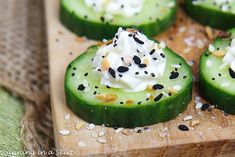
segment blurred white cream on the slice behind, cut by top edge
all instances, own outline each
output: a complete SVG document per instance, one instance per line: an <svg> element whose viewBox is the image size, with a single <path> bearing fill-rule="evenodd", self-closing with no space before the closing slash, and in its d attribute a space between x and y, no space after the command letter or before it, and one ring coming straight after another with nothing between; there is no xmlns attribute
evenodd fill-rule
<svg viewBox="0 0 235 157"><path fill-rule="evenodd" d="M131 17L142 10L144 0L85 0L85 4L106 18L113 15Z"/></svg>

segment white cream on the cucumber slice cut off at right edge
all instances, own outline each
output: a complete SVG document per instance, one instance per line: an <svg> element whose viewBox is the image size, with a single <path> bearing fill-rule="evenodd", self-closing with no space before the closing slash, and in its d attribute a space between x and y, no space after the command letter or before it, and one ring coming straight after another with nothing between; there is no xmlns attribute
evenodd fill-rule
<svg viewBox="0 0 235 157"><path fill-rule="evenodd" d="M230 66L235 71L235 38L232 40L227 52L223 58L223 65L221 67Z"/></svg>

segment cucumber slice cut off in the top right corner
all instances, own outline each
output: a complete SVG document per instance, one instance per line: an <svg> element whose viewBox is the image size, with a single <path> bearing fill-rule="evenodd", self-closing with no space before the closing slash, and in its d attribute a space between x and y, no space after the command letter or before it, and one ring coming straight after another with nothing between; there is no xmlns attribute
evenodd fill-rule
<svg viewBox="0 0 235 157"><path fill-rule="evenodd" d="M219 2L220 1L220 2ZM235 1L185 0L186 12L203 25L228 30L235 26Z"/></svg>

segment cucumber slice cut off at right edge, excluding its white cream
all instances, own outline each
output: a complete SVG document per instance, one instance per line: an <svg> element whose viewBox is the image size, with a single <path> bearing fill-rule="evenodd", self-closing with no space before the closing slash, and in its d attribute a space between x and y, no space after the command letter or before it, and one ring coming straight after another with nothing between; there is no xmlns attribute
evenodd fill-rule
<svg viewBox="0 0 235 157"><path fill-rule="evenodd" d="M225 51L235 37L235 29L232 35L223 39L218 37L213 46L216 50ZM220 69L223 57L209 52L207 49L200 59L200 91L204 98L222 109L226 113L235 114L235 79L228 67Z"/></svg>

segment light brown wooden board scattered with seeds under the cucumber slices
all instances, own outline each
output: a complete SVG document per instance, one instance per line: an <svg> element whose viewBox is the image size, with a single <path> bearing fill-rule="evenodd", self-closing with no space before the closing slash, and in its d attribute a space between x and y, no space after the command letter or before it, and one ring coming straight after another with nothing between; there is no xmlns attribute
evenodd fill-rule
<svg viewBox="0 0 235 157"><path fill-rule="evenodd" d="M193 100L179 117L148 126L150 129L142 133L136 133L132 129L116 134L113 128L101 126L88 130L88 124L66 106L63 80L68 63L95 42L83 41L83 38L76 37L63 27L58 17L59 0L45 0L45 10L51 106L57 149L72 153L72 156L235 156L235 116L226 116L216 109L210 112L200 111L195 109ZM165 41L170 48L188 60L197 80L198 59L210 42L207 37L210 29L206 33L204 27L186 17L181 9L177 16L176 24L156 39ZM197 83L194 85L196 96ZM183 121L182 118L187 115L192 115L193 119ZM199 120L200 124L190 127L193 120ZM85 125L76 129L77 123ZM190 131L180 131L180 124L187 125ZM61 135L61 130L69 130L69 135ZM91 136L100 131L105 132L100 138L105 139L106 143L97 142L97 138ZM81 147L84 144L86 146ZM60 155L65 156L63 153Z"/></svg>

